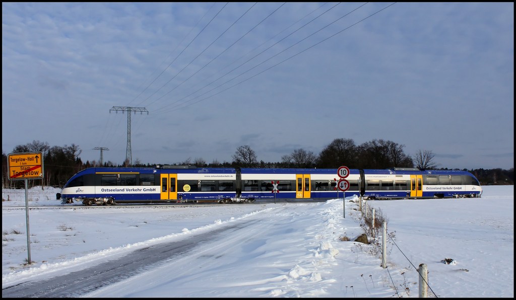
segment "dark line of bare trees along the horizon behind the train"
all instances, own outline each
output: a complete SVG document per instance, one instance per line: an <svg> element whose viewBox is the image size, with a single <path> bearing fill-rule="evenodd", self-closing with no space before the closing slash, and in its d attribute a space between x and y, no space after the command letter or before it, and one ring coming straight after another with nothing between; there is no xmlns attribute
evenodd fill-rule
<svg viewBox="0 0 516 300"><path fill-rule="evenodd" d="M337 169L346 165L350 169L388 169L388 168L418 168L426 170L447 169L440 168L434 161L434 154L430 150L421 149L414 155L404 152L405 145L382 139L372 140L356 145L352 139L335 139L319 154L299 148L292 153L283 155L281 161L265 162L257 159L257 154L249 145L236 148L232 161L219 162L217 160L206 163L202 158L191 159L174 163L176 165L196 165L201 168L317 168ZM80 159L82 150L78 145L50 146L47 142L33 141L25 145L15 146L11 153L41 152L43 155L43 179L29 179L29 186L53 186L62 188L70 177L80 170L91 166L101 166L100 161L86 161ZM141 163L138 159L132 166L152 168L163 163ZM7 155L2 151L2 188L24 188L23 180L9 180ZM116 165L111 161L102 162L102 166L129 166L128 161ZM477 177L481 185L513 185L514 168L503 169L475 169L469 171ZM43 180L43 182L41 182Z"/></svg>

